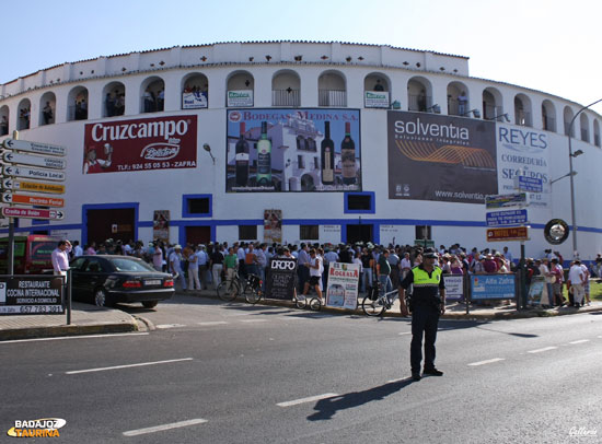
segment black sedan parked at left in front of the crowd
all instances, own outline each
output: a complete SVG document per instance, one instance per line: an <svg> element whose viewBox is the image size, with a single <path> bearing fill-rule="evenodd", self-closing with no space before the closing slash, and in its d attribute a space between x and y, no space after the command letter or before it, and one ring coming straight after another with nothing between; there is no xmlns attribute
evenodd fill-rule
<svg viewBox="0 0 602 444"><path fill-rule="evenodd" d="M172 274L155 271L136 257L79 256L71 260L71 268L73 300L99 306L141 302L152 308L175 292Z"/></svg>

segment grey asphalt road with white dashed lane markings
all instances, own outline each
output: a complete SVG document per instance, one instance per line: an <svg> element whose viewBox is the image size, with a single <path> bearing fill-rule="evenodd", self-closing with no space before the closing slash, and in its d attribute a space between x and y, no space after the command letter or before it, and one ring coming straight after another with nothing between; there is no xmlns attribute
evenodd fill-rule
<svg viewBox="0 0 602 444"><path fill-rule="evenodd" d="M412 382L407 319L190 296L127 309L157 329L0 342L2 436L62 418L61 443L602 441L602 315L441 322L445 374Z"/></svg>

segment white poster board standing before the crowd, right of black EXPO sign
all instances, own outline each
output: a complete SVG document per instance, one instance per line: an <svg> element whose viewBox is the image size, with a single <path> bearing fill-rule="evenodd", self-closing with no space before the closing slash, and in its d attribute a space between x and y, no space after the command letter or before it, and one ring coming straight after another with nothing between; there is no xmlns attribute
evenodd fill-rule
<svg viewBox="0 0 602 444"><path fill-rule="evenodd" d="M326 306L356 309L358 306L359 264L331 262Z"/></svg>

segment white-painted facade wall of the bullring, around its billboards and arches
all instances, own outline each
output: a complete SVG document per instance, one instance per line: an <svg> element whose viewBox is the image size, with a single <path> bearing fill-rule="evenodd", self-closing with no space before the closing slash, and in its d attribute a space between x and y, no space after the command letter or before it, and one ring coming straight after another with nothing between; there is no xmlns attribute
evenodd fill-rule
<svg viewBox="0 0 602 444"><path fill-rule="evenodd" d="M568 173L565 125L581 105L540 91L471 78L464 57L341 43L174 47L66 63L0 85L0 120L7 117L10 136L19 130L22 140L60 144L68 150L66 218L47 224L21 219L18 233L47 231L86 242L85 210L120 206L135 209L132 235L144 242L152 238L155 210L170 211L170 241L174 243L188 241L187 227L193 226L209 227L211 241L233 242L240 237L239 225L257 225L256 236L262 241L264 209L278 208L282 210L282 242L288 243L305 241L300 225L319 225L319 238L310 241L339 243L348 241L348 225L363 224L372 226L372 242L412 244L416 226L426 225L431 227L436 245L485 247L484 205L389 198L389 110L364 107L364 92L377 83L389 93L391 103L400 103L401 110L424 110L416 109L421 106L418 96L424 91L426 112L433 112L433 105L438 105L441 115L458 114L458 96L464 92L467 104L463 118L479 116L496 121L496 137L501 127L519 129L523 135L544 133L549 150L547 180ZM204 91L207 107L183 109L184 90L192 85ZM157 96L162 89L164 110L144 113L144 92L150 90ZM228 92L250 90L251 109L359 109L361 192L372 196L373 209L359 213L346 210L343 191L227 192L227 153L233 149L225 132ZM123 116L107 117L104 101L115 91L125 93L125 110ZM76 119L76 103L82 98L88 116ZM46 124L43 108L47 102L54 115ZM20 113L27 107L31 117L25 129ZM85 125L166 116L197 117L196 167L82 174ZM578 248L584 259L602 250L602 209L595 203L595 192L602 185L601 121L600 115L588 109L574 125L572 150L583 151L574 159L578 172L574 178ZM317 143L321 138L323 135L316 138ZM210 147L215 164L204 144ZM282 167L287 161L294 166L296 155L291 153L282 156ZM311 155L304 162L311 163ZM190 215L184 209L186 196L209 196L209 212ZM543 237L543 226L553 218L571 224L568 178L554 183L548 206L530 209L529 218L532 230L528 256L540 256L548 247L558 249L565 258L572 256L570 238L556 247ZM518 256L519 243L494 247L502 245Z"/></svg>

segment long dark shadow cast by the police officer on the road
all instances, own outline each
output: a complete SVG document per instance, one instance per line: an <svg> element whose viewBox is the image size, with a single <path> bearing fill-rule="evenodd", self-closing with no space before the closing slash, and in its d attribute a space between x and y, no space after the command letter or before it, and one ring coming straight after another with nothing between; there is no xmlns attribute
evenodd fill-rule
<svg viewBox="0 0 602 444"><path fill-rule="evenodd" d="M308 419L310 421L332 419L339 410L351 409L370 401L384 399L386 396L401 390L413 382L414 381L408 377L405 379L386 383L378 387L368 388L367 390L351 392L333 398L321 399L314 406L314 410L316 410L316 412L310 414Z"/></svg>

